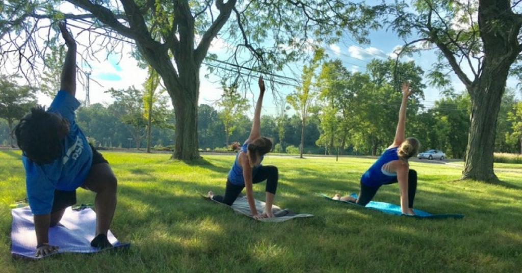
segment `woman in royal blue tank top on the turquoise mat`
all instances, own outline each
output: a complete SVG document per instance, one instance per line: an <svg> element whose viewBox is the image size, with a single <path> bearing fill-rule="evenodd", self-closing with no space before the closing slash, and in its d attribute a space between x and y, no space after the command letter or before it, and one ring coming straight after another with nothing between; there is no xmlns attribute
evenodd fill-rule
<svg viewBox="0 0 522 273"><path fill-rule="evenodd" d="M405 138L406 104L410 93L410 85L408 83L402 84L402 103L400 104L395 140L372 167L362 175L359 197L355 199L351 196L341 197L340 194L336 194L333 197L334 199L366 206L375 196L379 187L398 182L402 213L406 215L415 214L413 212L413 199L417 191L417 172L410 170L408 159L417 155L420 145L417 138Z"/></svg>

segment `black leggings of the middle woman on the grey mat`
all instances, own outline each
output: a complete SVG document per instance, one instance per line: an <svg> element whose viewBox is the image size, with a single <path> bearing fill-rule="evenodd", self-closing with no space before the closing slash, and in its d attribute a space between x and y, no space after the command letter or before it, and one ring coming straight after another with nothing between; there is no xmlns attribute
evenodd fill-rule
<svg viewBox="0 0 522 273"><path fill-rule="evenodd" d="M257 184L266 180L266 192L276 194L277 181L279 180L279 171L275 166L261 166L254 177L252 183ZM214 195L212 199L232 206L235 199L243 191L245 186L234 185L227 179L227 188L225 189L225 196Z"/></svg>

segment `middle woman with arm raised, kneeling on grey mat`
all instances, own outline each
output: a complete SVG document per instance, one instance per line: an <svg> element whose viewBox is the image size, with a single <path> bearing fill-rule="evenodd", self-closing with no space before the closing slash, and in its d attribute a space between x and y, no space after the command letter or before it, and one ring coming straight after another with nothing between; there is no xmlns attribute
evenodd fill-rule
<svg viewBox="0 0 522 273"><path fill-rule="evenodd" d="M274 217L272 214L272 204L277 189L279 173L275 166L263 166L263 156L272 149L272 141L261 136L261 106L265 94L265 84L263 77L259 77L259 98L257 99L254 112L254 121L250 136L241 147L235 158L232 169L230 169L227 179L225 195L214 195L208 192L208 197L223 204L231 206L238 195L246 187L246 198L252 217L255 219ZM266 200L263 213L259 214L254 201L252 185L266 180Z"/></svg>

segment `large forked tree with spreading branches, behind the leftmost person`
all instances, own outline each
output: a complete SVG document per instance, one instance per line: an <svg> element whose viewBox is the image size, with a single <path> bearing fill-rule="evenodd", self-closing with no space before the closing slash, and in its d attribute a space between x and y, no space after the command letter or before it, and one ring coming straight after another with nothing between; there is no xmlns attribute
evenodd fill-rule
<svg viewBox="0 0 522 273"><path fill-rule="evenodd" d="M242 67L274 71L306 56L311 41L329 44L348 34L366 42L368 31L378 26L376 13L383 10L348 0L67 0L76 9L64 13L58 10L61 2L11 0L3 4L0 64L14 57L19 60L19 72L39 78L35 70L26 73L26 65L45 56L46 47L40 41L42 33L49 33L43 29L50 26L46 19L68 19L70 26L74 22L88 31L84 57L100 49L120 51L118 43L135 45L136 54L158 72L172 98L173 157L184 160L199 158L199 70L218 34L229 45L224 57L234 62L235 69L229 70L236 70L236 75ZM223 58L209 57L215 66L222 64L218 62Z"/></svg>

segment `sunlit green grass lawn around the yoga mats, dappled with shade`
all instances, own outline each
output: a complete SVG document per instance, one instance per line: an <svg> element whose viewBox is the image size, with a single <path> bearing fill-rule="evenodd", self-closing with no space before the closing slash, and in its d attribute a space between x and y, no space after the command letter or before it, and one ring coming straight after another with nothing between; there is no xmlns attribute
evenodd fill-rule
<svg viewBox="0 0 522 273"><path fill-rule="evenodd" d="M266 157L280 170L276 204L313 218L257 222L198 196L224 191L233 156L199 164L169 155L104 152L118 177L111 227L126 252L64 254L37 262L10 257L9 204L25 197L19 152L0 151L2 272L520 272L522 174L499 172L503 185L455 181L460 168L411 162L419 173L416 208L462 213L422 220L335 203L317 193L358 192L368 158ZM264 186L254 186L264 199ZM397 185L376 200L399 203ZM78 203L93 194L78 190Z"/></svg>

